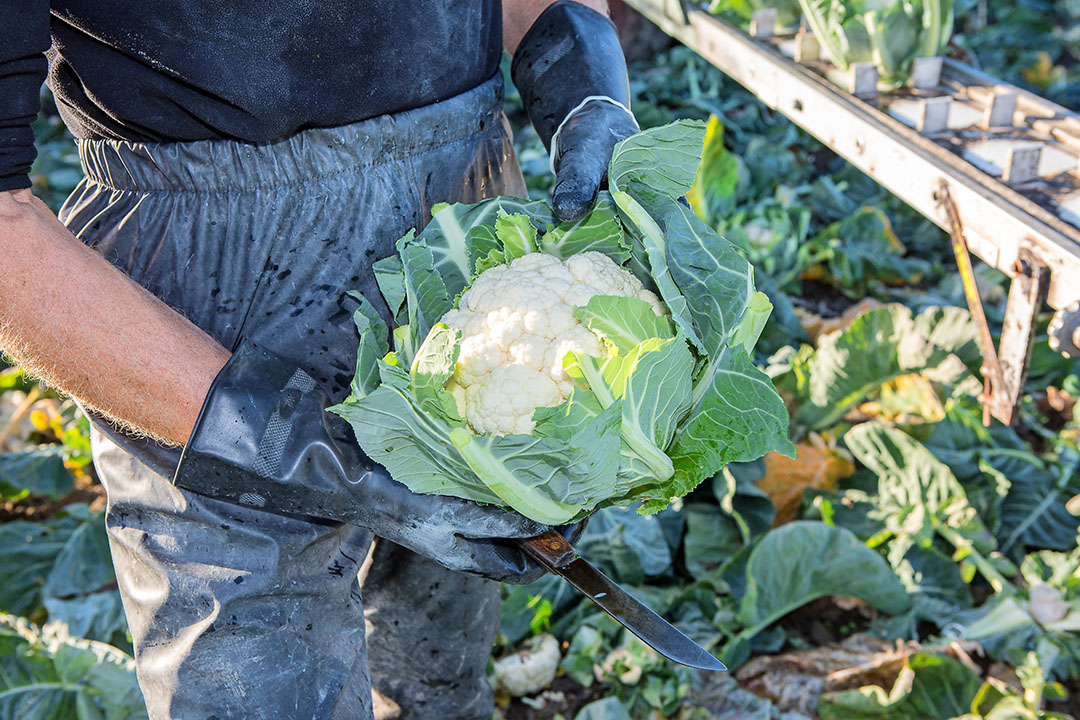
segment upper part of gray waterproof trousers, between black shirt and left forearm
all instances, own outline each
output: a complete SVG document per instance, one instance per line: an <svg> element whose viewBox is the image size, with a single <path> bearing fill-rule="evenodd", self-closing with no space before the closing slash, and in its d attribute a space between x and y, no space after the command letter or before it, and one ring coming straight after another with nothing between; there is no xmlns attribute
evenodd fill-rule
<svg viewBox="0 0 1080 720"><path fill-rule="evenodd" d="M267 145L82 141L86 178L59 216L222 345L248 337L342 398L347 291L387 314L372 264L433 204L525 194L501 84Z"/></svg>

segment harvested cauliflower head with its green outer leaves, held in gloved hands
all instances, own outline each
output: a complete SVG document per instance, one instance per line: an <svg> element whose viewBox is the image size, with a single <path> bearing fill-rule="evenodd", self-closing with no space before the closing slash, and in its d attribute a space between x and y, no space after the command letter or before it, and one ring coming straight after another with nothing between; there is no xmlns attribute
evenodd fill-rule
<svg viewBox="0 0 1080 720"><path fill-rule="evenodd" d="M620 142L610 192L577 222L558 222L542 202L495 198L436 207L422 232L402 237L396 255L376 264L393 348L380 316L355 296L356 373L351 395L332 408L364 451L414 492L552 525L610 504L658 512L729 462L772 450L794 457L784 404L751 357L768 298L755 290L751 264L679 202L703 136L702 123L678 121ZM491 296L492 276L538 268L581 271L594 289L518 274L539 289ZM595 289L609 285L624 291ZM551 298L538 298L549 289ZM566 310L564 297L581 302ZM523 305L540 300L550 316ZM482 316L459 322L467 311ZM495 322L517 315L516 325ZM473 321L490 321L488 335L470 335ZM556 324L558 337L578 340L545 340L532 354L524 341L486 352ZM543 364L548 377L536 371ZM462 391L483 373L501 373L494 397ZM523 408L524 418L492 417Z"/></svg>

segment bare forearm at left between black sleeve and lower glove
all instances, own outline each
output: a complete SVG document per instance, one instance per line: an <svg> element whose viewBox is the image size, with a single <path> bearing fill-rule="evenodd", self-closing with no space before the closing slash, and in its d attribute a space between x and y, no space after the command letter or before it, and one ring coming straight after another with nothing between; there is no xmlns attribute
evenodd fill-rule
<svg viewBox="0 0 1080 720"><path fill-rule="evenodd" d="M183 445L228 351L29 190L0 192L0 349L98 412Z"/></svg>

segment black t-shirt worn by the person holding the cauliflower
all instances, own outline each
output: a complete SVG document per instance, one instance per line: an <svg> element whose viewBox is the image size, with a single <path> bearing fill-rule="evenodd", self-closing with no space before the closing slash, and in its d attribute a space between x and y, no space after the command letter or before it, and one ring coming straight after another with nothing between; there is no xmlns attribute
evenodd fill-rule
<svg viewBox="0 0 1080 720"><path fill-rule="evenodd" d="M0 190L46 69L77 137L259 142L451 97L501 45L501 0L0 0Z"/></svg>

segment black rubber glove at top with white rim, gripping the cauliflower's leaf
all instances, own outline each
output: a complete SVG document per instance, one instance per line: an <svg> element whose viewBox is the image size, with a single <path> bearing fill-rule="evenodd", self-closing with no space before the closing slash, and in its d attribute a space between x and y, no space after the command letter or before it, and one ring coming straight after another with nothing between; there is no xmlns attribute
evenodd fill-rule
<svg viewBox="0 0 1080 720"><path fill-rule="evenodd" d="M578 220L596 200L616 142L638 131L615 25L579 2L559 0L525 33L510 71L551 151L555 215Z"/></svg>

